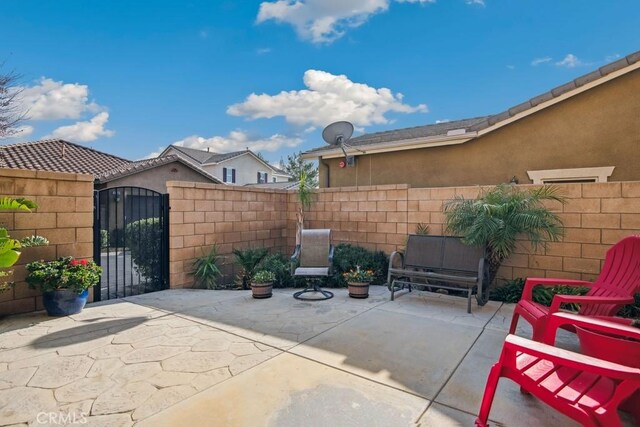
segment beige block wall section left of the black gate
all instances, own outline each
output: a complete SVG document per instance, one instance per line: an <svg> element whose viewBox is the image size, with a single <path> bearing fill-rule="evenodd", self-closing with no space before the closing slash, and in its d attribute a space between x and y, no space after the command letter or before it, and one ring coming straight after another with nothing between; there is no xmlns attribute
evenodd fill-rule
<svg viewBox="0 0 640 427"><path fill-rule="evenodd" d="M38 204L32 213L0 212L0 224L20 239L41 235L50 245L25 248L13 267L12 290L0 292L0 316L42 309L39 291L24 282L24 265L72 255L93 256L93 177L58 172L0 169L0 196L26 197Z"/></svg>

